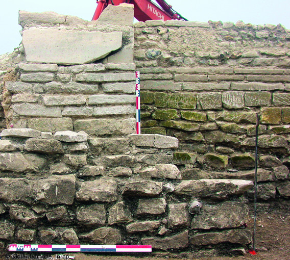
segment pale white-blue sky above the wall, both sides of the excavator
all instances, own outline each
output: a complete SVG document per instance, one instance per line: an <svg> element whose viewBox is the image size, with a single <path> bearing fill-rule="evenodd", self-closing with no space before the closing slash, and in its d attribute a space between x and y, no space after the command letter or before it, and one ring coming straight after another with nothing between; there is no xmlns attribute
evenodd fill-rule
<svg viewBox="0 0 290 260"><path fill-rule="evenodd" d="M243 20L252 24L281 23L290 29L290 0L166 0L173 9L190 21ZM95 0L1 0L0 55L13 51L21 41L18 10L54 11L91 20Z"/></svg>

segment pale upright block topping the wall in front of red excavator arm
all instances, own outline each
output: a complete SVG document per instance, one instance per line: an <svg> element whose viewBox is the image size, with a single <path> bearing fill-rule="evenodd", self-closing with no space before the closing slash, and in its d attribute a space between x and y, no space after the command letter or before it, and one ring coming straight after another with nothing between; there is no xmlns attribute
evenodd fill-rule
<svg viewBox="0 0 290 260"><path fill-rule="evenodd" d="M134 5L120 4L118 6L108 5L101 13L96 24L116 24L133 26Z"/></svg>

